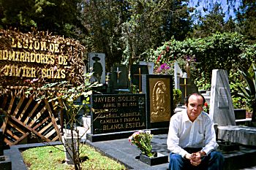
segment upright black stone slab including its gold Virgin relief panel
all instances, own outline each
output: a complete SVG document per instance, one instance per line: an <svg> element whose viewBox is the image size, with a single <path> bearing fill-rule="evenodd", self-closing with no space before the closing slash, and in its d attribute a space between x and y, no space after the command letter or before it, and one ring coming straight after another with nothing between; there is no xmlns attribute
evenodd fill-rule
<svg viewBox="0 0 256 170"><path fill-rule="evenodd" d="M167 128L173 115L173 76L143 75L147 128Z"/></svg>

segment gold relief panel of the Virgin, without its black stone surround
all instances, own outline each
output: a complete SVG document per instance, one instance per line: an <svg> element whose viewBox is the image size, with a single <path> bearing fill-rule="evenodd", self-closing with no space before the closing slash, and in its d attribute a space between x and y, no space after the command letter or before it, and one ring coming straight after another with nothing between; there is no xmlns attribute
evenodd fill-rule
<svg viewBox="0 0 256 170"><path fill-rule="evenodd" d="M170 120L170 80L150 80L151 86L151 123ZM155 82L152 82L155 81Z"/></svg>

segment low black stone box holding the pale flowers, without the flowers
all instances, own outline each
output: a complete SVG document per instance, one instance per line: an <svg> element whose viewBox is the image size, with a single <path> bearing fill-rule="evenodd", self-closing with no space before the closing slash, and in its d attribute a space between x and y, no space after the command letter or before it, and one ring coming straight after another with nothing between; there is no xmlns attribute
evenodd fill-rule
<svg viewBox="0 0 256 170"><path fill-rule="evenodd" d="M168 162L168 156L162 155L162 153L156 152L155 157L148 157L146 155L143 155L140 153L140 161L143 163L146 163L150 166L167 163Z"/></svg>

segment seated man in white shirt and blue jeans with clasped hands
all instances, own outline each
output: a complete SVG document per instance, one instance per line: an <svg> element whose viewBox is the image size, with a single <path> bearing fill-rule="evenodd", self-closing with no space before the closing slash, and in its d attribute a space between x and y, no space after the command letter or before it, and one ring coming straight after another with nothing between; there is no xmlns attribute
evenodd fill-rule
<svg viewBox="0 0 256 170"><path fill-rule="evenodd" d="M167 148L170 150L170 170L223 168L224 158L216 149L214 123L203 112L205 98L192 93L185 100L186 110L170 118Z"/></svg>

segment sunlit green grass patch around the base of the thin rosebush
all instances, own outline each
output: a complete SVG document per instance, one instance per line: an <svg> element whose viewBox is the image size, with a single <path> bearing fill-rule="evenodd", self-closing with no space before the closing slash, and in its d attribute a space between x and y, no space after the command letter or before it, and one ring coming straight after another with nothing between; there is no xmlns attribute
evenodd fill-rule
<svg viewBox="0 0 256 170"><path fill-rule="evenodd" d="M30 170L75 169L74 166L65 163L63 149L63 145L34 147L22 152L23 161ZM125 169L124 165L102 155L86 144L80 147L80 152L80 158L88 158L81 163L82 169Z"/></svg>

